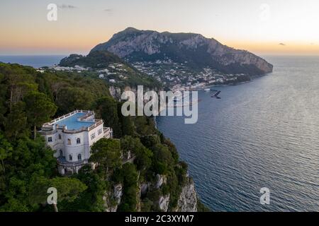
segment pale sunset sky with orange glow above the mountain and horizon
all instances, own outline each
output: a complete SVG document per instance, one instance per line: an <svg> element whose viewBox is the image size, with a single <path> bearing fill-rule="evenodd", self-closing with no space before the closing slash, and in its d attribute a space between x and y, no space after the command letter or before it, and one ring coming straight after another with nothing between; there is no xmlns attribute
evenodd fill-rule
<svg viewBox="0 0 319 226"><path fill-rule="evenodd" d="M57 21L47 20L48 4ZM196 32L256 54L319 55L318 0L1 0L0 21L1 55L87 54L127 27Z"/></svg>

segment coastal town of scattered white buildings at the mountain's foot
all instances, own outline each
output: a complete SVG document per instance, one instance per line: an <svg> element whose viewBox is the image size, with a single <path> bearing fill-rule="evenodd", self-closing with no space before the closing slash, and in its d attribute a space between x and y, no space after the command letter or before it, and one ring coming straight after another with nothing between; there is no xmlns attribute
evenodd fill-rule
<svg viewBox="0 0 319 226"><path fill-rule="evenodd" d="M214 85L236 85L251 80L250 76L244 73L221 73L210 67L195 71L187 66L187 62L177 63L171 59L138 61L131 65L141 73L155 78L165 89L172 91L202 90ZM95 77L115 86L128 79L128 69L119 63L108 64L104 69L92 69L79 65L54 65L48 69L77 73L91 72ZM44 69L39 69L39 71L44 71Z"/></svg>

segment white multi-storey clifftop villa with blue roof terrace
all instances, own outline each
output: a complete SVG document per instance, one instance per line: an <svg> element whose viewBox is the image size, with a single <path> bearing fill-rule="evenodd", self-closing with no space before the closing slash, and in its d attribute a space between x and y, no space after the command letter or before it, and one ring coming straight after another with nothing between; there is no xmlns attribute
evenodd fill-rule
<svg viewBox="0 0 319 226"><path fill-rule="evenodd" d="M77 173L89 161L91 145L101 138L112 138L113 131L103 127L94 112L77 110L43 124L39 133L55 150L60 174Z"/></svg>

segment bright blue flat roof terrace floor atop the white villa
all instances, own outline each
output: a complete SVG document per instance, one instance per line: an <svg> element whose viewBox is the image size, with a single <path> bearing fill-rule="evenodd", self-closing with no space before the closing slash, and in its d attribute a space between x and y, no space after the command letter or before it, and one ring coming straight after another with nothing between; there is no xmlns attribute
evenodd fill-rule
<svg viewBox="0 0 319 226"><path fill-rule="evenodd" d="M79 121L78 119L81 117L84 117L86 113L78 112L76 114L73 114L72 116L69 116L65 119L61 119L60 121L56 121L54 126L67 126L67 130L77 130L82 129L83 127L89 127L93 125L95 122L92 121Z"/></svg>

